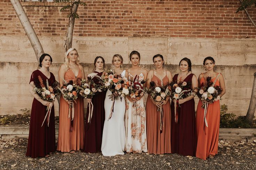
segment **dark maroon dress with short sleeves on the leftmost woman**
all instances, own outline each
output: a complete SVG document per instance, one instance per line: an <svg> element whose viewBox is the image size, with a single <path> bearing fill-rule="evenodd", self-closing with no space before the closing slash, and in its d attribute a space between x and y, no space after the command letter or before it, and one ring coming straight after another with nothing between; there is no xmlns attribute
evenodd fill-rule
<svg viewBox="0 0 256 170"><path fill-rule="evenodd" d="M35 82L41 76L44 82L48 79L41 71L33 71L30 82ZM29 83L30 83L29 82ZM55 82L55 77L51 73L51 77L48 79L51 86ZM40 156L46 156L50 152L56 150L55 145L55 123L54 123L54 106L51 110L49 119L49 127L47 122L41 127L46 115L46 106L42 105L37 99L34 98L31 108L30 126L29 126L29 139L26 156L37 158Z"/></svg>

